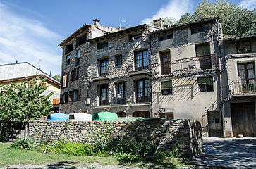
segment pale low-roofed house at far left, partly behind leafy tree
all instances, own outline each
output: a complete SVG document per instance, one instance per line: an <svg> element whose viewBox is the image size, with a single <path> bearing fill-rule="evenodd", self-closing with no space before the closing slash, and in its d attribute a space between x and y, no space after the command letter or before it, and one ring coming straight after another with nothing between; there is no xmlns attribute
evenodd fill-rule
<svg viewBox="0 0 256 169"><path fill-rule="evenodd" d="M44 94L53 92L54 94L49 98L53 105L52 111L59 111L59 96L60 96L60 82L54 77L47 75L42 70L36 68L28 62L10 63L0 65L0 84L19 83L25 80L32 80L36 77L44 77L46 79L44 85L48 87Z"/></svg>

